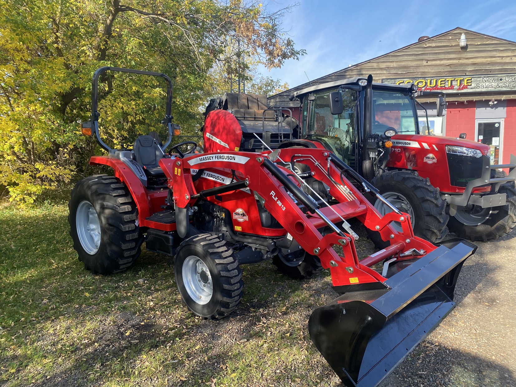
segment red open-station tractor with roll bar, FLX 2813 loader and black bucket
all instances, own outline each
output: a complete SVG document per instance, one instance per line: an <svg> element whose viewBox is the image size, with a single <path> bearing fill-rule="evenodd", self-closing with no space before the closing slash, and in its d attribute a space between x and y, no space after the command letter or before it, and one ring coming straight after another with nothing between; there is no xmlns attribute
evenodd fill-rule
<svg viewBox="0 0 516 387"><path fill-rule="evenodd" d="M111 149L102 140L97 89L108 70L167 80L165 146L156 135L139 136L132 149ZM186 307L208 319L237 307L241 265L271 259L295 278L329 269L340 296L312 313L309 331L348 386L377 385L454 307L460 269L475 245L456 239L434 246L414 236L407 213L392 207L379 214L363 193L389 202L326 149L241 147L241 126L227 110L209 113L205 153L192 153L195 142L166 151L174 133L170 106L164 74L110 67L95 72L83 133L94 135L107 153L90 164L108 166L114 175L89 176L71 193L70 233L87 269L103 275L125 270L144 241L148 250L174 257ZM260 109L253 113L265 117ZM347 223L353 217L389 246L359 262L358 236ZM382 272L371 268L382 261Z"/></svg>

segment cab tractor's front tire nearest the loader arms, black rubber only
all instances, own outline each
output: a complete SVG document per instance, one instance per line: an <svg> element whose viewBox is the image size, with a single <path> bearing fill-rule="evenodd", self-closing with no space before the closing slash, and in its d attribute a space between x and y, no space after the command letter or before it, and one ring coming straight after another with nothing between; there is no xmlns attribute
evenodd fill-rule
<svg viewBox="0 0 516 387"><path fill-rule="evenodd" d="M446 237L449 219L446 201L441 199L439 188L433 187L428 179L409 171L388 171L374 178L371 183L379 189L380 194L398 192L410 201L415 218L411 221L416 236L432 243L438 243ZM390 246L389 241L382 240L378 231L367 230L367 233L377 248Z"/></svg>

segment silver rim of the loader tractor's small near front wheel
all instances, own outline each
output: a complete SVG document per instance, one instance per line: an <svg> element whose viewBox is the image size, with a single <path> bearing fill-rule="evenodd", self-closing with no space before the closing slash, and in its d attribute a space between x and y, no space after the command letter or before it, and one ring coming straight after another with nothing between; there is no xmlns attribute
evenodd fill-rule
<svg viewBox="0 0 516 387"><path fill-rule="evenodd" d="M183 263L183 285L190 298L200 305L212 299L213 281L209 269L202 260L190 255Z"/></svg>

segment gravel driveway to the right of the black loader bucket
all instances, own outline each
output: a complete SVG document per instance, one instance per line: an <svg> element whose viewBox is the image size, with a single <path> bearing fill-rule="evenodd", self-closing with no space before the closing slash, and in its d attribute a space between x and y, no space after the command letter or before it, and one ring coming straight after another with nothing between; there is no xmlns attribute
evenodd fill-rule
<svg viewBox="0 0 516 387"><path fill-rule="evenodd" d="M457 282L457 307L382 387L516 386L516 232L477 245Z"/></svg>

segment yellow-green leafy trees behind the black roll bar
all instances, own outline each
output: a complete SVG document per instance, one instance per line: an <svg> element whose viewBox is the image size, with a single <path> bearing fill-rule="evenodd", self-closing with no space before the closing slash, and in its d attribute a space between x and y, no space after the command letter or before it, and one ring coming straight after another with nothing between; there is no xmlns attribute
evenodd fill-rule
<svg viewBox="0 0 516 387"><path fill-rule="evenodd" d="M253 0L0 0L0 9L0 184L11 200L34 201L100 152L79 131L95 69L166 73L174 121L193 133L229 41L245 42L268 68L304 53L281 29L286 9L269 12ZM132 142L159 127L163 84L126 75L103 81L106 141Z"/></svg>

